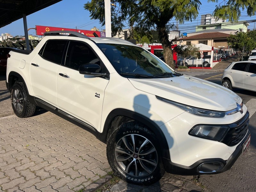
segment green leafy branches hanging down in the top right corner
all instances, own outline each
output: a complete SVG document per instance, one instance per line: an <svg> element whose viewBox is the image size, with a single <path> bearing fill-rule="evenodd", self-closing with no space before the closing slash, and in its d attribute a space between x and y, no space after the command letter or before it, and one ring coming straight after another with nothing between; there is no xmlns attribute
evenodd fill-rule
<svg viewBox="0 0 256 192"><path fill-rule="evenodd" d="M218 0L208 0L208 2L218 3ZM228 19L231 22L238 21L239 17L241 16L241 9L243 11L244 9L247 9L248 16L255 15L255 0L221 0L220 4L216 5L213 16L220 19Z"/></svg>

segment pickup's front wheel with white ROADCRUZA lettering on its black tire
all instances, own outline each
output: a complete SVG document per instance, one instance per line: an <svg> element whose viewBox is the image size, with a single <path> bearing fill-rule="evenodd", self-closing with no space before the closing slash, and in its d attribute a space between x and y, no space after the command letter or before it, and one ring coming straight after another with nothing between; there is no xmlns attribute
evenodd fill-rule
<svg viewBox="0 0 256 192"><path fill-rule="evenodd" d="M131 145L132 137L134 145ZM143 145L144 142L146 144ZM107 142L107 158L113 172L128 183L150 185L161 179L165 172L156 135L135 121L119 126L110 135ZM150 163L146 160L150 160Z"/></svg>

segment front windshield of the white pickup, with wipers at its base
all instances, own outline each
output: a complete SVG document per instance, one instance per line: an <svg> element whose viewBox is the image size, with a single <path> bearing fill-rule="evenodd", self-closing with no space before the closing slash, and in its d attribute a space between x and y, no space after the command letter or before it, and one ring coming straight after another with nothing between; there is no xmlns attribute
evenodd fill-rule
<svg viewBox="0 0 256 192"><path fill-rule="evenodd" d="M123 44L97 45L116 69L117 73L122 76L130 74L131 78L144 78L163 73L175 74L161 59L139 46Z"/></svg>

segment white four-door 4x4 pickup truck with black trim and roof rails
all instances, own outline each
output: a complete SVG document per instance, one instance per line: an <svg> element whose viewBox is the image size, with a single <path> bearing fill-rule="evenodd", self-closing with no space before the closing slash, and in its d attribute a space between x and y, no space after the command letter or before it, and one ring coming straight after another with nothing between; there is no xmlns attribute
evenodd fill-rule
<svg viewBox="0 0 256 192"><path fill-rule="evenodd" d="M179 74L122 39L44 35L32 52L9 53L15 114L28 118L40 106L92 132L123 180L220 173L248 148L249 112L229 89Z"/></svg>

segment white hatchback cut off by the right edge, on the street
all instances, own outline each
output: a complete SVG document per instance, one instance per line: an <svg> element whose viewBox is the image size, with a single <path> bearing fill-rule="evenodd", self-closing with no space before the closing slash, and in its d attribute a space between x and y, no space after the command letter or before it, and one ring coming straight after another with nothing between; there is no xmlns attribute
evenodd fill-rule
<svg viewBox="0 0 256 192"><path fill-rule="evenodd" d="M222 86L232 90L241 88L256 91L256 61L233 62L221 78Z"/></svg>

